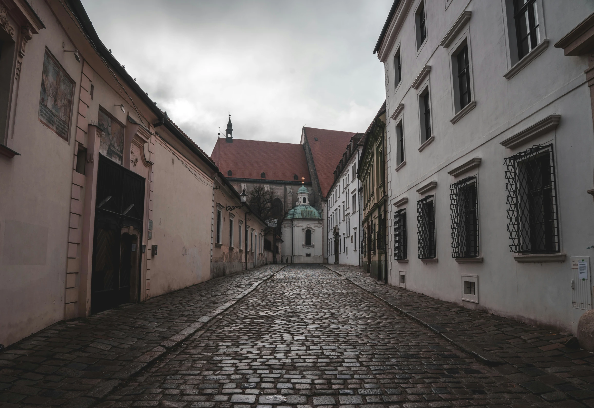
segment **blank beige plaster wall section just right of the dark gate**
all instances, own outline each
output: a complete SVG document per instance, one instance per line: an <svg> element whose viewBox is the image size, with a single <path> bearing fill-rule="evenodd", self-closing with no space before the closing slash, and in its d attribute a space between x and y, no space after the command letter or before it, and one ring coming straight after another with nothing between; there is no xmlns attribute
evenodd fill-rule
<svg viewBox="0 0 594 408"><path fill-rule="evenodd" d="M212 181L203 173L203 181L197 180L156 139L151 193L153 237L147 240L147 256L151 258L147 270L149 297L210 279ZM193 171L201 173L195 167ZM152 245L158 248L153 257Z"/></svg>

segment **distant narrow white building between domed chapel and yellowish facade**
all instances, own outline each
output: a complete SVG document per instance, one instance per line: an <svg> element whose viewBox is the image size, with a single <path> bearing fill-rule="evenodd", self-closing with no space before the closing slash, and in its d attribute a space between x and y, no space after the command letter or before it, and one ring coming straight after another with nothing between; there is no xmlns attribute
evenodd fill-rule
<svg viewBox="0 0 594 408"><path fill-rule="evenodd" d="M334 183L326 197L328 263L361 264L361 200L357 166L363 148L361 133L356 133L334 170Z"/></svg>

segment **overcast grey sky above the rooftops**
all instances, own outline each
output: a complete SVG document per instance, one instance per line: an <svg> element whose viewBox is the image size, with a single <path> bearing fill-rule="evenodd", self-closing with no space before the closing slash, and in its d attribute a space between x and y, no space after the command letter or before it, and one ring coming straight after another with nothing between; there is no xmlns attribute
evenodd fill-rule
<svg viewBox="0 0 594 408"><path fill-rule="evenodd" d="M392 0L83 0L106 47L208 154L233 136L364 132L385 98L372 51Z"/></svg>

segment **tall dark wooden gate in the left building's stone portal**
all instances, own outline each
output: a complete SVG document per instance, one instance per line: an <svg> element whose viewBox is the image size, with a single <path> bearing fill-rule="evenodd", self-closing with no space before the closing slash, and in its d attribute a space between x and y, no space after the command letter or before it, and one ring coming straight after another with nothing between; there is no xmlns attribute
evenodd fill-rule
<svg viewBox="0 0 594 408"><path fill-rule="evenodd" d="M144 185L144 177L99 155L91 313L140 300L130 298L131 289L140 293L140 262L131 262L131 258L138 256L142 242ZM125 227L134 227L138 239L122 234ZM131 264L139 270L131 273Z"/></svg>

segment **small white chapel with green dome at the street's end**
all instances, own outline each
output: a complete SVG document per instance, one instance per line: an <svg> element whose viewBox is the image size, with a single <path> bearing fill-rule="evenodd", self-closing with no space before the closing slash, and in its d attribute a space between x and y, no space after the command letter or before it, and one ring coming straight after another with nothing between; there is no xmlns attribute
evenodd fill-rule
<svg viewBox="0 0 594 408"><path fill-rule="evenodd" d="M285 263L323 263L323 220L309 205L309 190L297 190L297 204L282 224L282 254Z"/></svg>

